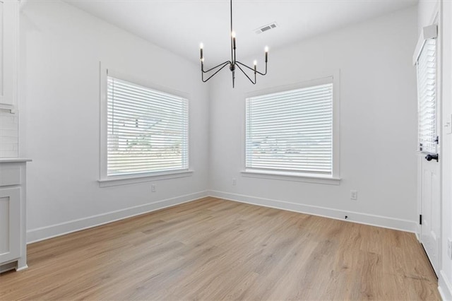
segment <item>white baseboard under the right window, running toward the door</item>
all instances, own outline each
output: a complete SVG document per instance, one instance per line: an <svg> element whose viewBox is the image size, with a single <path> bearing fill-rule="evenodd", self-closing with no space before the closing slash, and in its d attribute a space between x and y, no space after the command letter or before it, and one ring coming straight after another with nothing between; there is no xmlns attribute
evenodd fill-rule
<svg viewBox="0 0 452 301"><path fill-rule="evenodd" d="M311 206L300 203L291 203L287 201L277 201L273 199L263 199L255 196L246 196L243 194L231 194L223 191L209 191L210 196L220 199L228 199L231 201L239 201L242 203L251 203L253 205L265 206L270 208L283 209L287 211L295 211L299 213L307 213L313 216L323 216L326 218L334 218L338 220L360 223L365 225L374 225L382 228L402 230L405 232L416 232L417 224L414 220L402 220L397 218L388 218L386 216L374 216L367 213L342 211L333 208L320 206Z"/></svg>

